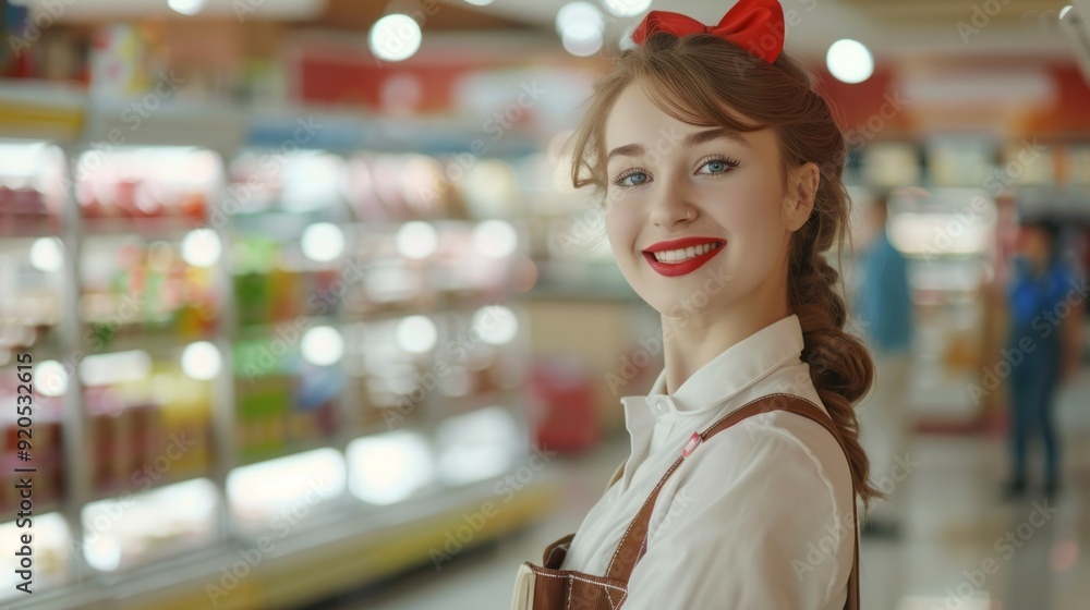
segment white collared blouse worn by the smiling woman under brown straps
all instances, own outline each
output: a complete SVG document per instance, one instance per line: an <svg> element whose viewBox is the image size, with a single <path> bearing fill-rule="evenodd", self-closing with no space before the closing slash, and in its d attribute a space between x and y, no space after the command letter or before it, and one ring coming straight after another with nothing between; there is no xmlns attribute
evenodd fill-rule
<svg viewBox="0 0 1090 610"><path fill-rule="evenodd" d="M673 395L665 370L625 396L632 453L623 477L580 525L562 569L605 575L620 538L694 431L759 396L788 393L824 411L790 315L704 365ZM700 444L663 487L625 610L841 610L855 499L836 440L800 415L755 415Z"/></svg>

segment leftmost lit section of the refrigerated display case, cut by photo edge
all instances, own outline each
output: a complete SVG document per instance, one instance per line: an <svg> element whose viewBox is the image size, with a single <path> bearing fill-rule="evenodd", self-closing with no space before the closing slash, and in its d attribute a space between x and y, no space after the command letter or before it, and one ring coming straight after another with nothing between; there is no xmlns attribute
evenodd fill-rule
<svg viewBox="0 0 1090 610"><path fill-rule="evenodd" d="M73 297L66 281L71 244L62 223L66 162L55 142L0 139L0 509L8 515L0 549L25 556L21 537L33 535L35 589L66 585L76 574L70 521L61 512L74 457L64 425L72 334L66 304ZM21 493L27 479L29 499ZM15 587L28 586L25 581L8 571L0 600L24 595Z"/></svg>

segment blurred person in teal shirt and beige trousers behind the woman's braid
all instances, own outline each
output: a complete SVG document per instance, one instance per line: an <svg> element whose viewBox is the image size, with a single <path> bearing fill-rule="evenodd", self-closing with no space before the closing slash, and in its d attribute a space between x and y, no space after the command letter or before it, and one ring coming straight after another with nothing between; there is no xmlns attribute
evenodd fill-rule
<svg viewBox="0 0 1090 610"><path fill-rule="evenodd" d="M889 243L886 232L889 194L870 206L867 223L870 240L860 253L861 278L856 294L856 314L874 361L874 385L860 402L860 440L871 459L871 478L885 500L873 503L863 535L899 535L899 487L904 486L908 455L909 417L905 390L912 347L912 300L908 260Z"/></svg>

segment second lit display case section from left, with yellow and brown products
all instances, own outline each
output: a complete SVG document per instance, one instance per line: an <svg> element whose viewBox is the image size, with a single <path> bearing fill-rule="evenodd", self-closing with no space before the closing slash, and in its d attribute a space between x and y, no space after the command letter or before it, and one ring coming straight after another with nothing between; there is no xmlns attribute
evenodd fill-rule
<svg viewBox="0 0 1090 610"><path fill-rule="evenodd" d="M88 148L74 168L81 548L109 574L226 539L214 422L229 400L217 386L227 286L208 218L223 171L189 146Z"/></svg>

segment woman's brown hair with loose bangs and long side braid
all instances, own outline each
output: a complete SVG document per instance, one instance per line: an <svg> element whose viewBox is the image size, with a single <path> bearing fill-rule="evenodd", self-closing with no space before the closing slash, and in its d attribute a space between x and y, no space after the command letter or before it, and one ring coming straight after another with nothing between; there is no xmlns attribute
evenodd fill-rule
<svg viewBox="0 0 1090 610"><path fill-rule="evenodd" d="M654 34L642 46L622 51L609 74L595 81L573 136L571 179L577 188L592 185L607 194L602 162L606 119L621 91L637 83L655 106L679 121L739 132L775 130L785 184L786 168L818 164L821 179L813 211L789 244L788 305L799 316L801 357L847 449L856 491L864 502L883 497L868 480L869 461L852 408L871 387L873 363L863 343L844 330L847 307L838 292L843 283L823 256L836 244L839 266L844 241L850 236L850 199L840 180L847 144L813 77L785 53L770 64L716 36ZM730 109L758 124L743 122Z"/></svg>

